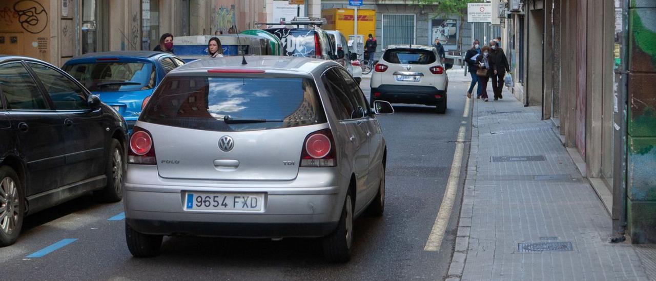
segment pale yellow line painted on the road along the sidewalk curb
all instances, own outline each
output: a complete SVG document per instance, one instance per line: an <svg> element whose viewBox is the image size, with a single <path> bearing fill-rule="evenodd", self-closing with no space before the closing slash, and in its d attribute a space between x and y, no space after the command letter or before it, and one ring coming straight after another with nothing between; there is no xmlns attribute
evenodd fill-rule
<svg viewBox="0 0 656 281"><path fill-rule="evenodd" d="M466 108L469 108L469 99L466 103ZM465 111L466 113L468 110ZM455 194L457 193L458 181L460 179L460 169L462 162L462 153L464 150L464 131L465 127L461 126L458 130L458 141L455 144L455 152L453 153L453 163L451 163L451 173L449 173L449 181L447 181L447 189L442 198L440 211L438 217L435 218L433 229L430 231L424 251L439 251L444 238L444 232L449 224L449 216L453 209L453 202L455 201Z"/></svg>

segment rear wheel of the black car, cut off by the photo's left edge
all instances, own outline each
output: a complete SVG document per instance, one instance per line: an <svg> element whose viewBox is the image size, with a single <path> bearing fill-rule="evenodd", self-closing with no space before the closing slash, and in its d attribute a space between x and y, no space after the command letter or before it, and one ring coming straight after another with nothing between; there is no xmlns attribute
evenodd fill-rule
<svg viewBox="0 0 656 281"><path fill-rule="evenodd" d="M23 227L23 191L16 171L9 166L0 167L0 247L14 244Z"/></svg>

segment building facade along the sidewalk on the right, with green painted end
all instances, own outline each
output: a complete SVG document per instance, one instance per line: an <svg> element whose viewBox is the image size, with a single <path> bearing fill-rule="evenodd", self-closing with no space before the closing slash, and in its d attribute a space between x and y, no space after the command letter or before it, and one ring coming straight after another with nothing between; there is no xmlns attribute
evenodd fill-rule
<svg viewBox="0 0 656 281"><path fill-rule="evenodd" d="M656 242L656 1L501 6L512 92L552 121L617 236Z"/></svg>

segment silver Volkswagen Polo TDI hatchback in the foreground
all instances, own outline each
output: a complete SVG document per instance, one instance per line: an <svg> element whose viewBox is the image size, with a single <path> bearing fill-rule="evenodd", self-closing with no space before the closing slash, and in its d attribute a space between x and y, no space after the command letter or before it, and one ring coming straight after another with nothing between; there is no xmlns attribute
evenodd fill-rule
<svg viewBox="0 0 656 281"><path fill-rule="evenodd" d="M382 215L386 144L377 114L335 62L199 60L170 72L130 140L125 232L135 257L164 235L320 237L348 261L353 221Z"/></svg>

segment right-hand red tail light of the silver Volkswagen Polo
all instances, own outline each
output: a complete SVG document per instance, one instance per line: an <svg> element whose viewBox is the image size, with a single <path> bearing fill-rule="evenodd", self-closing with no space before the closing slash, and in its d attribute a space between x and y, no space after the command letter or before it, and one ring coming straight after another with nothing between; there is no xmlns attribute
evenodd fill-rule
<svg viewBox="0 0 656 281"><path fill-rule="evenodd" d="M300 154L300 167L335 167L335 139L330 129L308 135Z"/></svg>

